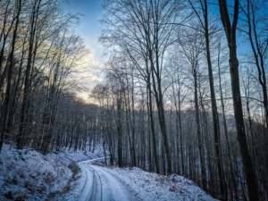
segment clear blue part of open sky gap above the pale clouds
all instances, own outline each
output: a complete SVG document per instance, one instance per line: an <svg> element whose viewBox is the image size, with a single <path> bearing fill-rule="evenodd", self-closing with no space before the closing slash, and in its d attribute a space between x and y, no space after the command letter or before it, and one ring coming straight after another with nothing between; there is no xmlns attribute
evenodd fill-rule
<svg viewBox="0 0 268 201"><path fill-rule="evenodd" d="M101 4L102 0L68 0L67 3L63 4L65 13L82 14L76 33L84 39L86 46L97 62L100 62L103 52L102 46L97 42L100 32Z"/></svg>

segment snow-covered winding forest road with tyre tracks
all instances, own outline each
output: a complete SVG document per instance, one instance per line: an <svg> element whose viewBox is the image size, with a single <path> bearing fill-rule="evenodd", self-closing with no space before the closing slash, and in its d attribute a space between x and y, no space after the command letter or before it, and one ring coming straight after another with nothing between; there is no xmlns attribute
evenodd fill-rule
<svg viewBox="0 0 268 201"><path fill-rule="evenodd" d="M87 176L79 201L135 200L135 197L130 195L129 190L112 174L106 172L102 167L91 164L100 159L103 158L78 163Z"/></svg>

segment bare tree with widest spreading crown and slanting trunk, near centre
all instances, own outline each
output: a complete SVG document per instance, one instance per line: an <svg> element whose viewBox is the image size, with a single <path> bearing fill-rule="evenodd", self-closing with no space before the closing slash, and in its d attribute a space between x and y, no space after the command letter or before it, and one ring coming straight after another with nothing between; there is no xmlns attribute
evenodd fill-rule
<svg viewBox="0 0 268 201"><path fill-rule="evenodd" d="M175 22L180 20L181 9L180 1L107 1L104 12L109 18L103 22L111 29L106 29L100 38L104 43L123 49L135 64L143 58L143 65L137 67L151 76L168 174L172 173L172 159L164 118L162 72L164 56L178 27ZM149 71L145 70L146 66Z"/></svg>

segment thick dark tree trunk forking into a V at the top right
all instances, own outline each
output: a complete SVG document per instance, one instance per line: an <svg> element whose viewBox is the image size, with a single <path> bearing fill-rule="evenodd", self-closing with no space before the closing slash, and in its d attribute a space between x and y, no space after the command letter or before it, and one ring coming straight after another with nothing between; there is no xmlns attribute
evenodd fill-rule
<svg viewBox="0 0 268 201"><path fill-rule="evenodd" d="M239 60L237 57L236 29L239 20L239 0L235 0L232 23L227 9L226 0L219 0L222 24L225 30L229 46L230 82L233 99L233 108L238 134L240 155L242 157L243 170L247 182L247 194L250 201L259 200L258 182L255 176L255 168L247 147L247 138L243 118L242 101L239 84Z"/></svg>

